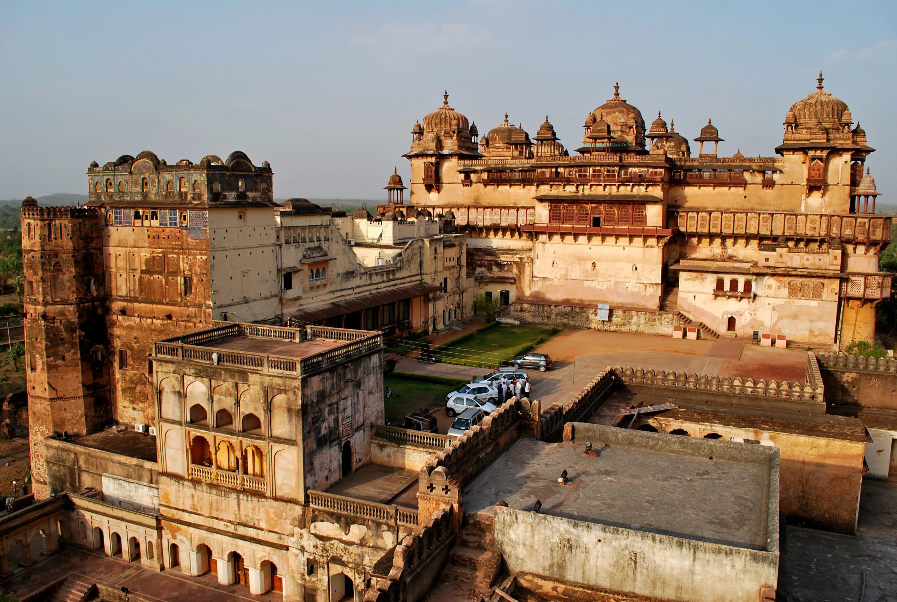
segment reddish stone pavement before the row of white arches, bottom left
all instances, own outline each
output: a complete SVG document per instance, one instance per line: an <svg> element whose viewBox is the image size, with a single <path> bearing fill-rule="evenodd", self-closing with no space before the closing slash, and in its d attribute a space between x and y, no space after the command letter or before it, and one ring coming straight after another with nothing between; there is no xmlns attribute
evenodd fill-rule
<svg viewBox="0 0 897 602"><path fill-rule="evenodd" d="M283 600L283 596L276 592L253 596L245 585L221 585L213 574L188 577L177 568L153 571L144 569L138 563L126 563L74 546L59 554L42 558L27 568L16 569L12 577L0 581L0 590L14 598L22 598L72 573L82 575L91 583L102 583L114 589L126 587L135 596L153 602L187 599L191 602Z"/></svg>

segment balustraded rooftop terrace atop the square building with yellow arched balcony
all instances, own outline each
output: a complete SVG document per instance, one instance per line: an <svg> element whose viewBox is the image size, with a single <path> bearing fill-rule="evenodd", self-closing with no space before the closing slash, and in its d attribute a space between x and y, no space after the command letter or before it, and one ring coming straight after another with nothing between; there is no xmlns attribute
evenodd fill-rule
<svg viewBox="0 0 897 602"><path fill-rule="evenodd" d="M370 330L272 327L215 322L215 327L156 341L153 357L238 366L243 370L309 374L383 346Z"/></svg>

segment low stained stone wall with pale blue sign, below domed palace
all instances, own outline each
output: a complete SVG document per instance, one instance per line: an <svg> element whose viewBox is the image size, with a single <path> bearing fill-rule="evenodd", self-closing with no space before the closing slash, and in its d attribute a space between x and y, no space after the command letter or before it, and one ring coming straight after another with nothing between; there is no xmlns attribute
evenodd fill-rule
<svg viewBox="0 0 897 602"><path fill-rule="evenodd" d="M612 308L610 319L607 321L598 319L598 310L594 307L517 301L511 305L511 311L536 324L592 328L611 332L639 332L649 335L672 336L673 327L687 326L676 314L664 311Z"/></svg>

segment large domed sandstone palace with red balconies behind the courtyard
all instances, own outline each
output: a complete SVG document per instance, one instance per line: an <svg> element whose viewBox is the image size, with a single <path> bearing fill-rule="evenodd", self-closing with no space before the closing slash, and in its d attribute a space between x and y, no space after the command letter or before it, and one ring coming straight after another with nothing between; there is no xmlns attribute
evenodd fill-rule
<svg viewBox="0 0 897 602"><path fill-rule="evenodd" d="M478 291L539 321L872 340L875 304L891 294L878 271L891 218L875 214L875 149L822 74L768 157L723 156L710 119L692 154L659 113L646 127L619 86L583 130L575 152L547 117L532 137L507 115L479 136L446 95L412 129L405 213L453 219Z"/></svg>

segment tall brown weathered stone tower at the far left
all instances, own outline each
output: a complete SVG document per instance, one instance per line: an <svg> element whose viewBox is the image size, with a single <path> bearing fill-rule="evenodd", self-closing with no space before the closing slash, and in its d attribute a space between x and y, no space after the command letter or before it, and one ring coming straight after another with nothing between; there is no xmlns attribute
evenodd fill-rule
<svg viewBox="0 0 897 602"><path fill-rule="evenodd" d="M31 480L45 498L43 440L109 423L109 336L100 213L22 201Z"/></svg>

